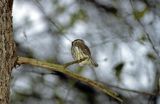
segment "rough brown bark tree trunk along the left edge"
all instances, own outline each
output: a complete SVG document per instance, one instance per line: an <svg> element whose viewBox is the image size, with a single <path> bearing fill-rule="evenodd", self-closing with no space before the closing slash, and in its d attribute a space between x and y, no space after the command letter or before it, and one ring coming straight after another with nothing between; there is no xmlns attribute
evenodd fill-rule
<svg viewBox="0 0 160 104"><path fill-rule="evenodd" d="M13 0L0 0L0 104L9 104L11 70L16 61L12 4Z"/></svg>

